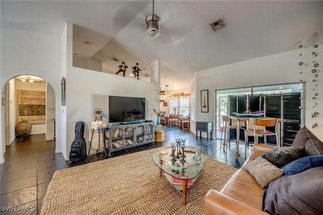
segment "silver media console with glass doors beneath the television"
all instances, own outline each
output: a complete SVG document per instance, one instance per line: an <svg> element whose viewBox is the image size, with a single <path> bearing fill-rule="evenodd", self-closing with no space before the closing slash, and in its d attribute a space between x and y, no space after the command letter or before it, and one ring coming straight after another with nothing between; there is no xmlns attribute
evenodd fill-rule
<svg viewBox="0 0 323 215"><path fill-rule="evenodd" d="M111 152L154 142L154 122L117 124L104 130L105 148Z"/></svg>

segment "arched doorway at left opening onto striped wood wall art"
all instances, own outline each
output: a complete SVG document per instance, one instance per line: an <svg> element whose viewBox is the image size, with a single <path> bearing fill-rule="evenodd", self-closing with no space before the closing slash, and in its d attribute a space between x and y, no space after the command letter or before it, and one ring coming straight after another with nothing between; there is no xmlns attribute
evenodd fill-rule
<svg viewBox="0 0 323 215"><path fill-rule="evenodd" d="M3 88L2 103L4 153L15 140L15 126L22 119L32 124L30 134L44 133L46 140L54 139L56 94L48 82L32 75L13 77Z"/></svg>

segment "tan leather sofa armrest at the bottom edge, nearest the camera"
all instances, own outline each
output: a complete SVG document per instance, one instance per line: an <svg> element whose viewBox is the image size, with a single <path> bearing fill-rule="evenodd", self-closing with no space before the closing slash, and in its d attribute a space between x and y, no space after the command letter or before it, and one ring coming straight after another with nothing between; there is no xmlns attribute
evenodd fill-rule
<svg viewBox="0 0 323 215"><path fill-rule="evenodd" d="M209 190L204 198L204 215L211 214L267 214L216 190Z"/></svg>

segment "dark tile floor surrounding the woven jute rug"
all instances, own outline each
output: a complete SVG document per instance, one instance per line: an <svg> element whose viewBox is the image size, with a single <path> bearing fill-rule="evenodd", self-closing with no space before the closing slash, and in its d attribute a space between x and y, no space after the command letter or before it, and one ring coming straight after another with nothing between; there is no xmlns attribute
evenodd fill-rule
<svg viewBox="0 0 323 215"><path fill-rule="evenodd" d="M226 156L225 151L220 147L220 140L196 139L193 133L182 131L181 129L166 131L164 142L155 142L154 145L143 145L137 148L115 152L112 153L112 157L157 147L170 146L176 137L186 137L187 145L204 146L208 157L235 168L240 168L244 163L243 144L239 146L241 157L236 162L234 156L236 146L228 148ZM0 208L2 214L39 214L47 186L56 170L101 160L101 156L95 154L88 156L84 162L78 164L65 161L61 153L55 153L55 142L53 140L46 141L44 134L16 138L10 146L7 146L6 150L5 163L0 165ZM249 150L248 154L250 152ZM8 212L4 211L6 210L6 206L16 207L10 207L14 211ZM29 209L29 211L17 212L22 209Z"/></svg>

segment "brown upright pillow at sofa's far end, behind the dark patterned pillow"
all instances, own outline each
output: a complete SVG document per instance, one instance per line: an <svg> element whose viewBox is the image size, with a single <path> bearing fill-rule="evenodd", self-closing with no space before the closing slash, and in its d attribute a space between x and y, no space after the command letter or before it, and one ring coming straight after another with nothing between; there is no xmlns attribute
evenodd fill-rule
<svg viewBox="0 0 323 215"><path fill-rule="evenodd" d="M323 155L323 142L306 127L297 132L292 146L305 147L305 156Z"/></svg>

